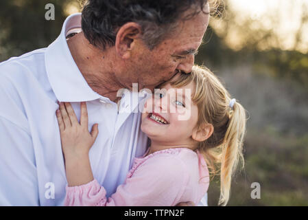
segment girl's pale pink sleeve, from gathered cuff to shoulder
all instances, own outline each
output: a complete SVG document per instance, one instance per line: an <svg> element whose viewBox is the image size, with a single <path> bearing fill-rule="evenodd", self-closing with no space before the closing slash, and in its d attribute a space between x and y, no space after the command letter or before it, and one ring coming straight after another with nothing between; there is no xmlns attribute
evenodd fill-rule
<svg viewBox="0 0 308 220"><path fill-rule="evenodd" d="M189 180L186 165L174 155L156 155L134 171L126 183L106 199L96 180L67 187L65 206L175 206Z"/></svg>

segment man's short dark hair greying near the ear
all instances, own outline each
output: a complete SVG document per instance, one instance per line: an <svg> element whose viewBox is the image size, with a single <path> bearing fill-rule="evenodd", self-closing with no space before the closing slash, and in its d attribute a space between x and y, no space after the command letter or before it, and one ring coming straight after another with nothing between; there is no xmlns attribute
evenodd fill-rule
<svg viewBox="0 0 308 220"><path fill-rule="evenodd" d="M95 47L115 45L117 30L128 22L141 25L142 39L152 50L179 19L204 11L208 0L88 0L82 10L82 31ZM183 17L183 12L192 9Z"/></svg>

